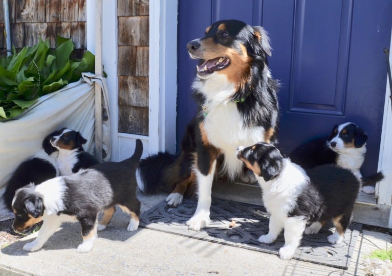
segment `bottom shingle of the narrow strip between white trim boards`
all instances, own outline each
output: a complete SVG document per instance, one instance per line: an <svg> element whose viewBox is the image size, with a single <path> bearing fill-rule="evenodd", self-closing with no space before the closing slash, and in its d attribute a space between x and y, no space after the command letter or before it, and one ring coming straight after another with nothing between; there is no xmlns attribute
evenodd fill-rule
<svg viewBox="0 0 392 276"><path fill-rule="evenodd" d="M148 108L119 106L118 131L148 135Z"/></svg>

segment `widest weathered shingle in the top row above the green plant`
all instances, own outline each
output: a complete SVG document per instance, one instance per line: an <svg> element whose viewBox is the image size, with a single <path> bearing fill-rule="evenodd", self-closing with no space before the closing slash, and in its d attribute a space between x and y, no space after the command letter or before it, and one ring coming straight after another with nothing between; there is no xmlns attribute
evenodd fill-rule
<svg viewBox="0 0 392 276"><path fill-rule="evenodd" d="M46 0L18 0L15 2L16 22L45 22Z"/></svg>

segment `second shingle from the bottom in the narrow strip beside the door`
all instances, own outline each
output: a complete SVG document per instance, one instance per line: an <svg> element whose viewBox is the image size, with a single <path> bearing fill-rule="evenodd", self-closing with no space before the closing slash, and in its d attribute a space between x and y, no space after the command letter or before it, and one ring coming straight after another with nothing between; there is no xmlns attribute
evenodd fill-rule
<svg viewBox="0 0 392 276"><path fill-rule="evenodd" d="M118 104L148 107L148 77L119 76Z"/></svg>

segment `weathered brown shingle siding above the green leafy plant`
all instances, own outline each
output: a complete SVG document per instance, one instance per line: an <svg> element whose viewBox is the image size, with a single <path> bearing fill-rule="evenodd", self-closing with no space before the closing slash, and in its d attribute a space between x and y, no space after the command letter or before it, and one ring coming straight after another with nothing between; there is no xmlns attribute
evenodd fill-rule
<svg viewBox="0 0 392 276"><path fill-rule="evenodd" d="M32 46L39 38L49 39L56 47L57 35L72 38L73 58L81 58L86 49L86 0L8 0L11 43L18 50ZM6 54L3 1L0 5L0 55Z"/></svg>

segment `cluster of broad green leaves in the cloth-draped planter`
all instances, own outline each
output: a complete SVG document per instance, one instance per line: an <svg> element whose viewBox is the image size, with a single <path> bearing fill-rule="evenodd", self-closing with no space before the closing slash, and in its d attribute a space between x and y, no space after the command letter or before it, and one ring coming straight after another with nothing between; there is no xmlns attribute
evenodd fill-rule
<svg viewBox="0 0 392 276"><path fill-rule="evenodd" d="M0 59L0 119L18 116L39 97L81 78L82 72L95 71L95 56L86 51L81 60L71 60L74 43L57 37L56 49L49 40Z"/></svg>

